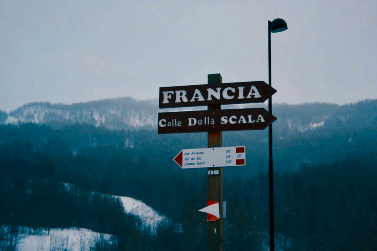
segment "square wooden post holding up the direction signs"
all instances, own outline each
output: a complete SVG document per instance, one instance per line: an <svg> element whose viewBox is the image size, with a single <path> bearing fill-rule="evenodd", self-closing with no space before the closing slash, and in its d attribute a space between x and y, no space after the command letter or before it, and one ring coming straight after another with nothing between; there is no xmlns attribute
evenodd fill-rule
<svg viewBox="0 0 377 251"><path fill-rule="evenodd" d="M208 85L222 84L222 77L219 73L208 74ZM208 105L208 111L221 110L221 105ZM222 147L222 132L208 132L208 148ZM218 201L220 206L220 219L208 221L208 251L222 251L223 243L223 219L222 219L222 167L208 168L208 170L219 170L218 175L208 175L208 201Z"/></svg>

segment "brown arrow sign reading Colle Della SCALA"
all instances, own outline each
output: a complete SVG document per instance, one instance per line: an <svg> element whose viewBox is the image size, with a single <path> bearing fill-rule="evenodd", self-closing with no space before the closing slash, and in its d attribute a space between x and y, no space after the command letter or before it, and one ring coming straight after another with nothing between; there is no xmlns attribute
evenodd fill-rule
<svg viewBox="0 0 377 251"><path fill-rule="evenodd" d="M262 130L275 120L264 108L158 113L158 133Z"/></svg>

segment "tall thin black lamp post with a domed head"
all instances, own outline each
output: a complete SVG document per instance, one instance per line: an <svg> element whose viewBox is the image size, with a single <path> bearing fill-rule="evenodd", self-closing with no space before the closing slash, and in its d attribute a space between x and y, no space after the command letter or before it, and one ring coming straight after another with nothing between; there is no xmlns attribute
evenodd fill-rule
<svg viewBox="0 0 377 251"><path fill-rule="evenodd" d="M271 85L271 32L282 32L288 29L287 23L276 18L268 21L268 84ZM272 114L272 96L268 98L268 112ZM272 123L268 126L268 185L270 194L270 251L275 250L274 234L274 161L272 155Z"/></svg>

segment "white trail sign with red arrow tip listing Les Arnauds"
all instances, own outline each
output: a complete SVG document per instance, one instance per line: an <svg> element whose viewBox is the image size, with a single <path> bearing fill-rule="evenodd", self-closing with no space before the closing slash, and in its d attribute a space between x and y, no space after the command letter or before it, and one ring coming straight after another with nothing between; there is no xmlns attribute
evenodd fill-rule
<svg viewBox="0 0 377 251"><path fill-rule="evenodd" d="M245 166L245 146L183 149L174 161L181 168Z"/></svg>

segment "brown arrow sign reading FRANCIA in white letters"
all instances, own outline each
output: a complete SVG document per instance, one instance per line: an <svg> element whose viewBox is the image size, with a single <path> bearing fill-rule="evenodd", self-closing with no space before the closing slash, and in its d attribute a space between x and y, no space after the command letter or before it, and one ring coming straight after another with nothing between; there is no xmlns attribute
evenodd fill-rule
<svg viewBox="0 0 377 251"><path fill-rule="evenodd" d="M160 87L159 108L261 103L274 93L264 81Z"/></svg>

